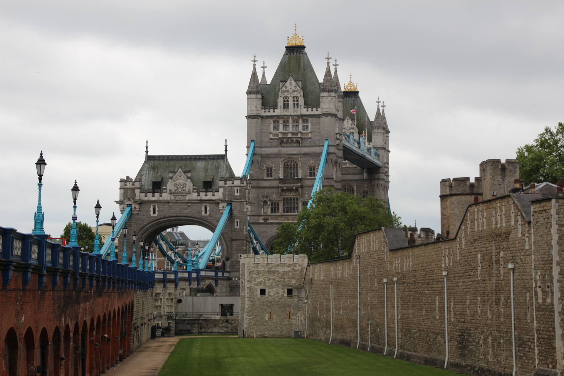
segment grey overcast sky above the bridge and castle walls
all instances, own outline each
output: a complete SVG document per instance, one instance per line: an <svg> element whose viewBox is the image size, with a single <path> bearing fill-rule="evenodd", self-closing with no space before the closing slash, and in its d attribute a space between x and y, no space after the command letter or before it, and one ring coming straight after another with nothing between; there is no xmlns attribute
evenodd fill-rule
<svg viewBox="0 0 564 376"><path fill-rule="evenodd" d="M0 225L30 232L43 151L45 230L118 211L150 154L246 153L251 59L270 81L298 25L318 78L327 51L369 113L386 102L390 201L440 231L439 181L478 176L564 121L562 1L0 2ZM259 64L262 65L262 64ZM206 232L192 231L192 238Z"/></svg>

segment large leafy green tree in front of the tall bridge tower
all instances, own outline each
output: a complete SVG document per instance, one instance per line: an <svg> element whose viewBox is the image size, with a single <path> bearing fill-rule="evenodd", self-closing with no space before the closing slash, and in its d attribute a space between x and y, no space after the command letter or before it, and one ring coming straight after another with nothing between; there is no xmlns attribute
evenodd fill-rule
<svg viewBox="0 0 564 376"><path fill-rule="evenodd" d="M356 233L401 225L401 218L390 214L377 198L325 187L314 194L310 209L299 212L297 223L283 223L276 229L272 252L306 254L310 262L346 258Z"/></svg>

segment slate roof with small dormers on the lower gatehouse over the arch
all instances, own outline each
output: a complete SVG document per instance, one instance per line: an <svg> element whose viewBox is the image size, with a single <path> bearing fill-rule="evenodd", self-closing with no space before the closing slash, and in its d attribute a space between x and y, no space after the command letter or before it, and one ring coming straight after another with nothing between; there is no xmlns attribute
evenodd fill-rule
<svg viewBox="0 0 564 376"><path fill-rule="evenodd" d="M151 190L153 179L161 176L161 188L169 180L169 171L191 171L192 184L198 189L204 187L204 176L213 175L211 188L219 187L219 178L235 176L229 161L224 154L207 154L194 156L147 156L147 161L139 169L135 179L141 179L141 189Z"/></svg>

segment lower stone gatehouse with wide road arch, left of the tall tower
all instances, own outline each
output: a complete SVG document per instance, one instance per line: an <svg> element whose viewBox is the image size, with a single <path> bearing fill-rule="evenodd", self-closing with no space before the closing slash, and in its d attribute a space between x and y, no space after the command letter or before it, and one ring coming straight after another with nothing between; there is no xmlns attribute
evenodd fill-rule
<svg viewBox="0 0 564 376"><path fill-rule="evenodd" d="M180 225L200 225L214 231L227 204L231 216L220 237L226 268L239 272L239 254L247 253L246 216L249 214L250 184L235 176L225 154L151 156L135 176L120 179L120 210L131 205L127 220L138 240L154 239L158 233ZM130 234L129 234L130 235ZM130 235L131 236L131 235ZM131 264L131 238L127 239L127 262ZM121 261L123 236L116 256Z"/></svg>

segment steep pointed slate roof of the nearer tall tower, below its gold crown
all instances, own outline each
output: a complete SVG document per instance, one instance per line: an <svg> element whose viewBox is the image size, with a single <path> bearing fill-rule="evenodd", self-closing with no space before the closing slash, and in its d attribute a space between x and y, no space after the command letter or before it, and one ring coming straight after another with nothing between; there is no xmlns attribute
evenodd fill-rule
<svg viewBox="0 0 564 376"><path fill-rule="evenodd" d="M280 82L286 82L290 76L302 82L304 105L320 104L319 79L307 57L305 48L305 46L286 46L286 51L280 59L270 84L261 85L263 106L275 107L277 105Z"/></svg>

